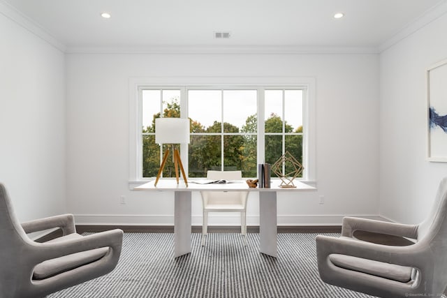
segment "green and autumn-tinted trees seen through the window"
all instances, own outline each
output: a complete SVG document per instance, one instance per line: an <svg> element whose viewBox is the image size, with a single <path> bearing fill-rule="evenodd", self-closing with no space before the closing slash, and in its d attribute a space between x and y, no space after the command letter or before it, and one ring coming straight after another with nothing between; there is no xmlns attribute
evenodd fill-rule
<svg viewBox="0 0 447 298"><path fill-rule="evenodd" d="M142 129L142 133L155 132L155 119L160 113L153 115L151 126ZM180 117L180 106L177 98L166 104L163 117ZM247 117L245 125L239 129L227 122L219 121L205 128L200 122L190 120L191 133L217 133L217 135L191 135L188 158L189 177L206 177L207 170L242 170L243 177L256 177L257 171L257 115ZM265 162L274 163L284 153L282 152L282 135L268 135L268 133L281 133L283 122L277 114L271 114L265 120ZM284 124L285 132L292 133L293 127ZM244 133L244 135L225 135L225 133ZM302 133L302 126L295 129L295 133ZM286 135L285 148L300 163L302 163L302 135ZM223 142L223 156L221 145ZM167 147L163 145L163 152ZM171 150L172 156L172 150ZM154 135L143 135L142 138L143 177L155 177L160 167L160 147L155 144ZM286 169L286 172L289 169ZM168 161L163 170L163 177L174 177L173 158Z"/></svg>

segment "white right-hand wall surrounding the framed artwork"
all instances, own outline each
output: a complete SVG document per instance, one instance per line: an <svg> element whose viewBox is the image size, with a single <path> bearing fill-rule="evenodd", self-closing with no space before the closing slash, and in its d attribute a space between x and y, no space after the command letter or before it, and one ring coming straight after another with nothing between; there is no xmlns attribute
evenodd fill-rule
<svg viewBox="0 0 447 298"><path fill-rule="evenodd" d="M401 223L427 216L447 163L427 161L427 68L447 59L447 15L380 55L380 214Z"/></svg>

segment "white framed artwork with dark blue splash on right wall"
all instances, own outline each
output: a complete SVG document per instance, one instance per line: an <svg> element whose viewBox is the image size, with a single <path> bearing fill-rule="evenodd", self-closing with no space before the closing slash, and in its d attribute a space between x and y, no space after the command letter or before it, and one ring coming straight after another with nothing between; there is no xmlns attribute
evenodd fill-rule
<svg viewBox="0 0 447 298"><path fill-rule="evenodd" d="M427 70L428 160L447 162L447 60Z"/></svg>

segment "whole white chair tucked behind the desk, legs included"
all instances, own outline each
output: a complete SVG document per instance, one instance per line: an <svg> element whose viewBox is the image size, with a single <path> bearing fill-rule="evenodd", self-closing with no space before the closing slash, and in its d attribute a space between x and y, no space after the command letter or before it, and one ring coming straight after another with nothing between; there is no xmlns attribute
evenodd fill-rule
<svg viewBox="0 0 447 298"><path fill-rule="evenodd" d="M242 180L241 171L208 171L207 179ZM203 202L202 246L208 234L208 212L240 212L241 234L244 246L247 245L247 197L248 191L200 191Z"/></svg>

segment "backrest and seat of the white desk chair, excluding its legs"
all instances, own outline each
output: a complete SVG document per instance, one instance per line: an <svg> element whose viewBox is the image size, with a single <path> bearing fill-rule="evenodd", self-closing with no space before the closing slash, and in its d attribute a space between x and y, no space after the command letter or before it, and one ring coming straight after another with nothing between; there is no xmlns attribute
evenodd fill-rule
<svg viewBox="0 0 447 298"><path fill-rule="evenodd" d="M242 180L241 171L208 171L207 179ZM247 191L202 191L203 205L207 204L242 204L247 207Z"/></svg>

